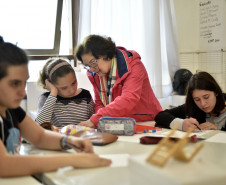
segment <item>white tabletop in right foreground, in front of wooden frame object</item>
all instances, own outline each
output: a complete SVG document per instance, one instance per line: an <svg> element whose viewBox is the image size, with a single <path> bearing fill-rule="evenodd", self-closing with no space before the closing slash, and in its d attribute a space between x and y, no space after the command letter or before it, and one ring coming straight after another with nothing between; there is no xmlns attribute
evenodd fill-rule
<svg viewBox="0 0 226 185"><path fill-rule="evenodd" d="M170 158L165 166L159 167L147 163L146 154L132 156L129 158L131 185L224 185L225 155L225 144L206 142L190 162Z"/></svg>

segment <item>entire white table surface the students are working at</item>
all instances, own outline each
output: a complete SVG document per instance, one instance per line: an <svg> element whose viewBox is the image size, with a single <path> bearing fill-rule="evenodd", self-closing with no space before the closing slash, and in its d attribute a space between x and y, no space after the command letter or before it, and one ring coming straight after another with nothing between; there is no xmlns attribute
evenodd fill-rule
<svg viewBox="0 0 226 185"><path fill-rule="evenodd" d="M165 132L163 129L158 132ZM147 163L146 158L156 145L140 144L140 137L153 133L119 136L118 141L94 146L94 151L102 157L112 159L110 167L74 169L65 167L54 172L37 174L36 177L47 185L137 185L137 184L225 184L226 182L226 137L220 132L220 139L202 140L204 147L186 163L170 159L165 166L158 167ZM154 133L155 134L155 133ZM217 136L216 134L215 136ZM213 137L215 137L213 136ZM199 144L200 142L196 143ZM23 155L51 155L63 152L39 150L29 145L22 148ZM69 150L68 152L74 152ZM215 183L216 182L216 183Z"/></svg>

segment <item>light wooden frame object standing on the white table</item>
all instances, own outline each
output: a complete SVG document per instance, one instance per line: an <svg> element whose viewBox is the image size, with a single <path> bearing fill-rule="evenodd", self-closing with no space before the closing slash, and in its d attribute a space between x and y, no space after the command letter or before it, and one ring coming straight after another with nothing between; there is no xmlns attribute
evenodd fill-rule
<svg viewBox="0 0 226 185"><path fill-rule="evenodd" d="M158 143L155 150L148 156L147 162L158 166L164 166L170 157L188 162L198 153L203 147L203 143L194 147L194 150L190 155L186 154L184 150L189 142L189 135L193 129L187 131L186 134L177 141L170 140L170 137L175 133L177 128L178 126L174 127L172 131Z"/></svg>

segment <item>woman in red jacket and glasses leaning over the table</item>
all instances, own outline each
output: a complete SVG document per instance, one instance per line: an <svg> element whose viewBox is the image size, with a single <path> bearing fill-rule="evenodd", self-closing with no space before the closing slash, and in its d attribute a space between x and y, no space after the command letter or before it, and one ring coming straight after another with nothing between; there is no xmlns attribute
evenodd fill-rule
<svg viewBox="0 0 226 185"><path fill-rule="evenodd" d="M76 48L76 57L88 69L95 94L95 114L80 125L95 128L103 116L149 121L162 111L136 51L116 47L110 37L90 35Z"/></svg>

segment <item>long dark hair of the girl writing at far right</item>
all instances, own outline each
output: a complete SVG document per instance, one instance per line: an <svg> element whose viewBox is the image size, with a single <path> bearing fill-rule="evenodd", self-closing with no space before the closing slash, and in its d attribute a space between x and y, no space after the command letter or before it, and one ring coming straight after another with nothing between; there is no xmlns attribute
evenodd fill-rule
<svg viewBox="0 0 226 185"><path fill-rule="evenodd" d="M188 82L185 102L187 116L199 118L201 115L205 114L197 107L192 97L192 93L196 89L212 91L216 94L216 105L213 109L213 113L216 114L216 116L219 116L220 112L225 107L224 94L216 80L207 72L194 74Z"/></svg>

